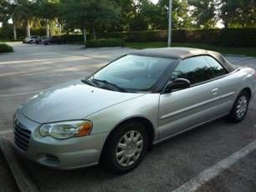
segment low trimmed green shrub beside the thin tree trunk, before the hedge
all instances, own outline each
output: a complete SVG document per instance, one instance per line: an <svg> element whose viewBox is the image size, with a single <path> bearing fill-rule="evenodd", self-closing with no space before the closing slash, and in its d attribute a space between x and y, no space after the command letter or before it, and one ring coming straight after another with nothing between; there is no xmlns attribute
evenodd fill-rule
<svg viewBox="0 0 256 192"><path fill-rule="evenodd" d="M124 47L125 41L120 38L91 39L86 42L87 48Z"/></svg>

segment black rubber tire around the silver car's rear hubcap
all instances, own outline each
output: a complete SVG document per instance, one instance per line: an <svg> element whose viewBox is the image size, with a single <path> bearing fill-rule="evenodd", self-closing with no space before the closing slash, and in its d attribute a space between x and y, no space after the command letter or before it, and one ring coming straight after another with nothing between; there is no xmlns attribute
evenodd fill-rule
<svg viewBox="0 0 256 192"><path fill-rule="evenodd" d="M241 99L246 99L246 104L243 104L244 108L242 111L243 113L238 113L239 105L241 104ZM248 91L243 90L241 93L238 94L238 97L233 104L233 109L231 110L230 114L228 114L228 121L232 123L238 123L241 122L248 111L248 104L250 101L250 96ZM240 105L241 106L241 105Z"/></svg>

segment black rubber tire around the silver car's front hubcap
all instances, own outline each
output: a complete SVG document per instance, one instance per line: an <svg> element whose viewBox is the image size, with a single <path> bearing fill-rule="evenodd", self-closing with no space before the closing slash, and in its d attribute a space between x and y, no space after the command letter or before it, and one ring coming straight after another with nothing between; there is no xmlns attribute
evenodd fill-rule
<svg viewBox="0 0 256 192"><path fill-rule="evenodd" d="M138 152L141 154L136 154L137 152L133 152L132 154L134 154L134 156L132 156L133 158L131 159L131 157L129 156L129 155L132 155L132 154L129 154L130 145L126 144L127 146L126 149L121 149L121 150L125 150L125 154L123 157L130 159L131 165L128 165L130 160L126 159L123 163L126 165L123 166L120 164L120 161L123 157L119 157L120 159L116 157L117 153L123 152L123 151L119 151L120 148L118 147L118 144L120 144L120 142L122 141L125 142L125 139L124 139L125 135L130 134L130 137L131 137L131 132L134 133L133 135L136 135L136 136L139 135L139 137L143 140L140 146L141 152ZM135 138L136 137L134 137L134 139ZM146 151L148 148L148 141L149 139L148 139L146 127L144 124L141 124L141 122L129 121L129 122L125 122L124 124L120 124L118 127L115 128L115 130L110 134L109 138L107 139L104 147L104 151L102 152L102 155L100 158L100 163L104 165L106 169L110 170L110 172L114 174L125 174L131 171L132 169L135 169L136 166L138 166L141 163L141 160L146 155ZM134 142L135 142L134 144L136 144L137 141L134 141ZM138 148L137 145L134 145L134 146L135 148ZM136 149L134 150L136 151Z"/></svg>

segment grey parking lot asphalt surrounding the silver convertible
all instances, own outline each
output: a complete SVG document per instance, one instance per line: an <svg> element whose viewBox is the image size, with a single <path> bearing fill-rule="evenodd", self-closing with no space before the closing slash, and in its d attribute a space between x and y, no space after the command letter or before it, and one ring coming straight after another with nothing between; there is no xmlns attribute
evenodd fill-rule
<svg viewBox="0 0 256 192"><path fill-rule="evenodd" d="M78 45L12 45L15 53L0 54L0 136L7 139L13 139L15 109L33 94L83 78L111 59L132 51L84 49ZM241 67L256 69L256 58L230 55L226 58ZM121 176L109 174L100 166L60 171L28 161L24 164L42 191L171 191L252 143L256 139L255 117L256 99L253 99L242 123L230 124L218 119L157 144L137 169ZM252 170L255 153L233 164L200 190L256 191L256 172Z"/></svg>

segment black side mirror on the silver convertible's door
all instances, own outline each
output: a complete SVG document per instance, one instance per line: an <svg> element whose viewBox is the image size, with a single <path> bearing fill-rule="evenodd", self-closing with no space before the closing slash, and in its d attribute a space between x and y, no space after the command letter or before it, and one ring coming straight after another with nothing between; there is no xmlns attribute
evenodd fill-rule
<svg viewBox="0 0 256 192"><path fill-rule="evenodd" d="M165 93L171 93L175 89L189 88L191 83L187 78L176 78L173 82L166 84Z"/></svg>

